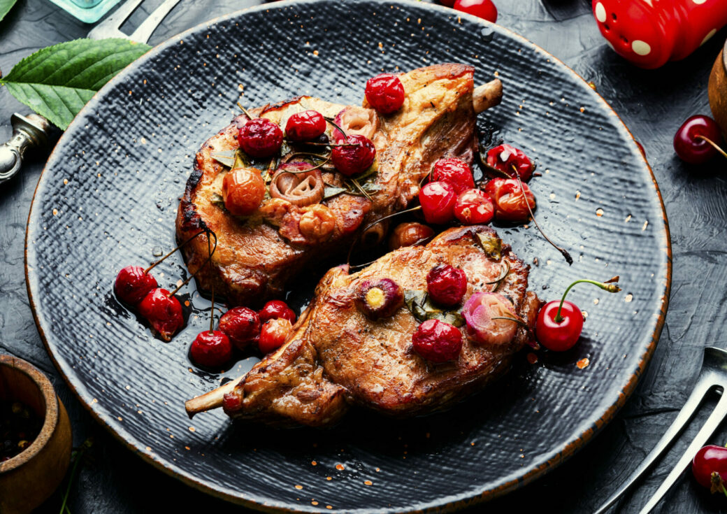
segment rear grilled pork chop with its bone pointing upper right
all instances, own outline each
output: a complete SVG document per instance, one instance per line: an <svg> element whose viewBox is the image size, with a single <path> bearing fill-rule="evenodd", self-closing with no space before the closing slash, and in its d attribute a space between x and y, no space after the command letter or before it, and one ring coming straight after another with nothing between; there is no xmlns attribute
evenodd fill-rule
<svg viewBox="0 0 727 514"><path fill-rule="evenodd" d="M368 108L339 105L312 97L297 97L254 109L253 116L285 127L293 113L313 109L333 119L337 115L348 134L363 134L374 142L377 158L367 196L342 193L320 203L334 215L335 226L324 238L306 236L300 221L311 206L297 206L280 198L263 201L258 211L241 220L220 205L222 177L228 168L214 153L238 148L237 134L248 120L238 116L207 140L196 156L177 213L177 237L184 241L206 228L217 236L212 266L206 236L184 248L190 273L201 289L223 294L230 305L257 306L284 294L286 283L321 257L343 254L364 228L393 212L405 209L419 193L419 182L443 157L473 160L475 111L497 105L502 96L499 80L485 84L473 97L473 68L441 64L401 75L406 92L403 107L388 116ZM327 132L333 138L332 127ZM316 147L318 150L321 147ZM291 151L295 151L292 149ZM308 150L310 151L310 149ZM283 160L285 160L283 156ZM324 167L326 185L340 186L345 177ZM272 193L272 192L271 192ZM374 238L385 235L385 223L371 229Z"/></svg>

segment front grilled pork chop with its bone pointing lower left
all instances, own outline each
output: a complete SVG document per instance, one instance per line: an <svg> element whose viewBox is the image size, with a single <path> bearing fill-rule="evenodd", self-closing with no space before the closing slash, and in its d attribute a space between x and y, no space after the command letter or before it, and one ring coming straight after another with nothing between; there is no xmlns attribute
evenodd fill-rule
<svg viewBox="0 0 727 514"><path fill-rule="evenodd" d="M500 245L487 226L450 228L426 246L397 249L357 273L345 266L329 270L286 343L241 380L188 401L188 413L222 405L233 418L320 427L352 404L396 417L450 406L506 372L535 323L539 300L526 290L529 266ZM427 273L440 264L465 271L463 304L476 292L497 290L526 326L499 320L499 332L509 337L484 343L462 327L457 360L432 364L412 348L419 321L409 308L377 321L357 308L362 281L391 278L402 289L426 290Z"/></svg>

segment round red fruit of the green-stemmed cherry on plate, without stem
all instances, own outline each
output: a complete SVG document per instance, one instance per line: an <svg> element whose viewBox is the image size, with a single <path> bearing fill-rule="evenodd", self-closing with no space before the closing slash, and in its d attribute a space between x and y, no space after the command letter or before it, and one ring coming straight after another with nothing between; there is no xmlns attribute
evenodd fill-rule
<svg viewBox="0 0 727 514"><path fill-rule="evenodd" d="M562 352L573 348L583 330L583 313L572 302L563 302L562 321L555 321L560 300L547 302L540 309L535 324L535 338L548 350Z"/></svg>

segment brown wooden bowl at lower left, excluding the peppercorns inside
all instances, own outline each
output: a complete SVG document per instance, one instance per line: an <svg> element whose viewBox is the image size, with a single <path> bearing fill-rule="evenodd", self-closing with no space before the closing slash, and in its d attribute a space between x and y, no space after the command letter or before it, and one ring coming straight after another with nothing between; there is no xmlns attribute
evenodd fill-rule
<svg viewBox="0 0 727 514"><path fill-rule="evenodd" d="M71 422L50 380L20 358L0 355L0 399L23 402L44 417L31 446L0 462L0 513L28 513L63 480L71 462Z"/></svg>

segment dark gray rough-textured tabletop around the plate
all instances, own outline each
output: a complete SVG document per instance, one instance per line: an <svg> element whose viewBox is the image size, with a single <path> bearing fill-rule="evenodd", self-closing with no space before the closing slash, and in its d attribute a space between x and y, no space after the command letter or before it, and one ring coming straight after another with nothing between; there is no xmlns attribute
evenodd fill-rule
<svg viewBox="0 0 727 514"><path fill-rule="evenodd" d="M672 137L688 116L709 113L707 79L727 37L722 30L681 63L643 71L617 57L598 33L590 0L495 0L498 22L559 57L611 103L646 148L662 190L672 233L674 270L669 313L662 338L638 388L585 449L553 473L477 510L507 513L586 513L608 497L648 453L686 400L707 345L727 346L727 165L681 163ZM129 20L131 32L161 0L147 0ZM164 20L157 44L203 20L251 4L252 0L183 0ZM75 20L47 0L19 0L0 23L0 69L7 72L36 49L85 36L92 25ZM10 115L28 109L0 89L0 137L11 132ZM55 140L60 132L55 134ZM25 358L42 369L68 407L74 443L89 436L94 446L73 484L69 507L79 513L240 512L244 509L184 486L142 462L96 424L53 367L33 323L25 289L23 240L33 190L44 156L33 156L23 173L0 190L0 353ZM696 433L703 410L670 454L619 504L631 513L646 502ZM721 427L713 443L727 443ZM60 492L41 507L60 509ZM727 498L710 496L684 477L660 505L662 513L727 512Z"/></svg>

